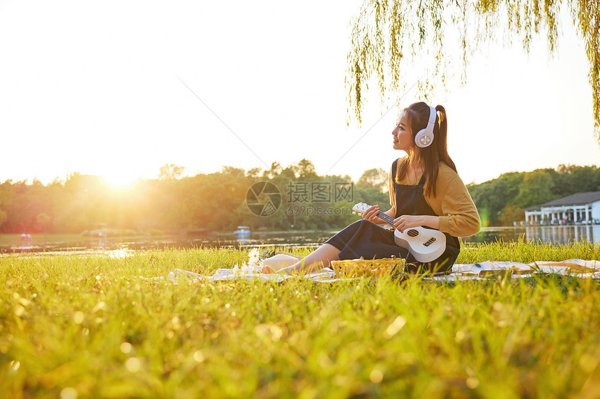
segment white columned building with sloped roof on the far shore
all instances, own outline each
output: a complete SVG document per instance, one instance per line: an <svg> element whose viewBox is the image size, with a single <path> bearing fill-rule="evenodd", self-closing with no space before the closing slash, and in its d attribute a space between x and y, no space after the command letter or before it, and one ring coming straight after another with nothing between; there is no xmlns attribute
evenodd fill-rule
<svg viewBox="0 0 600 399"><path fill-rule="evenodd" d="M577 193L525 208L527 224L598 224L600 191Z"/></svg>

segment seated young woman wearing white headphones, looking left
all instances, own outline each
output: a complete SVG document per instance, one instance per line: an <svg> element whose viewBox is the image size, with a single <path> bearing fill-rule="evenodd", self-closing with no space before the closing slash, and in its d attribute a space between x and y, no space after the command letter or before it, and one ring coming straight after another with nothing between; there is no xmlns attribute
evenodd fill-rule
<svg viewBox="0 0 600 399"><path fill-rule="evenodd" d="M391 208L384 212L393 218L393 227L403 232L407 228L425 226L446 235L446 249L428 263L419 263L407 249L398 247L393 232L384 224L374 205L363 212L363 219L347 226L325 244L302 260L287 259L287 267L278 272L307 274L329 267L331 260L374 258L405 258L409 272L444 272L452 267L460 243L457 237L479 231L481 221L467 187L456 173L456 166L447 150L448 123L441 105L433 108L416 102L403 109L393 135L393 148L406 156L391 166L389 198ZM293 263L293 264L292 264ZM280 265L286 265L285 261ZM265 263L262 272L275 272L273 264Z"/></svg>

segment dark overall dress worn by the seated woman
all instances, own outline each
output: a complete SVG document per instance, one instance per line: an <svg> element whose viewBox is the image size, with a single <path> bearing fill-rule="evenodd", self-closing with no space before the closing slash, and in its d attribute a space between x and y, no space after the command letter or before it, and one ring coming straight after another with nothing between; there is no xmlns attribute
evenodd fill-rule
<svg viewBox="0 0 600 399"><path fill-rule="evenodd" d="M398 159L392 164L391 175L396 175L396 166ZM396 196L396 215L400 217L403 214L423 214L437 216L435 212L425 201L423 196L423 185L425 176L421 177L418 185L398 185L393 183L393 191ZM460 251L460 242L458 238L444 233L446 235L446 251L440 258L428 263L417 261L411 253L405 248L398 247L393 239L393 232L377 226L373 222L365 219L355 221L350 226L341 230L338 234L327 240L326 244L331 244L340 250L340 260L358 259L361 256L365 259L380 258L405 258L407 272L446 272L449 270Z"/></svg>

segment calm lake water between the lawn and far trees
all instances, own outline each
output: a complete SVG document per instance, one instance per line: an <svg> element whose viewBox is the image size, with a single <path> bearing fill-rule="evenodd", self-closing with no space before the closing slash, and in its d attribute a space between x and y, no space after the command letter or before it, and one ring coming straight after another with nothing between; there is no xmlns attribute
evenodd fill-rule
<svg viewBox="0 0 600 399"><path fill-rule="evenodd" d="M1 235L0 253L122 253L163 248L198 247L318 247L336 231L323 232L258 232L250 240L236 240L233 234L205 236L135 236L98 239L80 235L33 235L30 243L21 243L20 235ZM463 242L511 242L519 240L567 244L587 241L600 244L600 226L518 226L482 228L477 235L466 237Z"/></svg>

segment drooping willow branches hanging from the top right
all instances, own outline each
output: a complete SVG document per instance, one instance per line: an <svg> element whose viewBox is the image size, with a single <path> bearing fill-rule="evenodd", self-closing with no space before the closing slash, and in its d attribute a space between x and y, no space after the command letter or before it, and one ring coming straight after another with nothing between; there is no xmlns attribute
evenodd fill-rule
<svg viewBox="0 0 600 399"><path fill-rule="evenodd" d="M546 29L548 52L557 48L560 6L571 10L572 22L585 42L590 62L594 133L600 143L600 1L597 0L366 0L352 22L347 55L346 86L350 109L361 122L363 97L370 79L377 79L380 97L405 88L407 65L419 65L419 94L428 99L435 87L444 87L453 62L455 29L462 52L461 81L466 81L468 58L504 27L504 39L518 36L529 51L533 35ZM433 54L432 54L433 53ZM424 77L424 78L423 78ZM429 78L434 77L434 78ZM423 79L421 79L423 78ZM349 109L349 111L350 111Z"/></svg>

